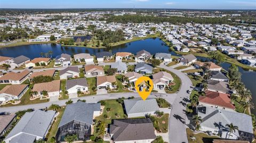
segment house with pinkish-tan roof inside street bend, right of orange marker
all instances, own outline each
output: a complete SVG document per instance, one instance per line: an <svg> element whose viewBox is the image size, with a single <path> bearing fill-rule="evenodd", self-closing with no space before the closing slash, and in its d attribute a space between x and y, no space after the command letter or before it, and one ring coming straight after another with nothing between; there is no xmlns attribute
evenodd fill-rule
<svg viewBox="0 0 256 143"><path fill-rule="evenodd" d="M173 82L173 77L168 72L158 72L153 74L153 83L154 88L164 89L166 85L169 85L171 82Z"/></svg>

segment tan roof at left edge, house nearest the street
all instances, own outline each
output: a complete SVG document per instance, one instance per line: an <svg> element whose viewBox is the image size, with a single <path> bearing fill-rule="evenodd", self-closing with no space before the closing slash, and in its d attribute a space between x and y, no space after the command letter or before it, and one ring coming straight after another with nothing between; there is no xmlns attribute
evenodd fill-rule
<svg viewBox="0 0 256 143"><path fill-rule="evenodd" d="M4 93L18 96L24 89L27 88L27 86L28 85L8 85L0 91L0 94Z"/></svg>

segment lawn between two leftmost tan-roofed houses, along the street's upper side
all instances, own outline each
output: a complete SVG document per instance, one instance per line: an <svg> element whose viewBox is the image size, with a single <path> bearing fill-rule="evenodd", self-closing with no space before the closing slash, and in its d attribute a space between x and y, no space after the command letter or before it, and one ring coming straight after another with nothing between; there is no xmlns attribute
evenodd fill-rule
<svg viewBox="0 0 256 143"><path fill-rule="evenodd" d="M4 105L4 107L9 107L9 106L19 106L19 105L28 105L28 104L37 104L37 103L44 103L44 102L49 102L49 99L42 99L37 98L35 100L30 100L30 95L29 91L31 89L29 88L26 93L21 97L21 102L17 105L12 105L11 103Z"/></svg>

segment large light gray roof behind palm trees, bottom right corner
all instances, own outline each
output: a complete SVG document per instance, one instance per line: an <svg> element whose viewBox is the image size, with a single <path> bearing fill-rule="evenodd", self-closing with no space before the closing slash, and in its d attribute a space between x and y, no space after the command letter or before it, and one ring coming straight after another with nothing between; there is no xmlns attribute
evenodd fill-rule
<svg viewBox="0 0 256 143"><path fill-rule="evenodd" d="M201 112L202 110L205 113ZM216 124L221 124L222 128L225 128L226 124L233 123L239 131L253 133L252 117L243 113L218 110L212 107L199 107L198 116L202 117L202 127L219 130Z"/></svg>

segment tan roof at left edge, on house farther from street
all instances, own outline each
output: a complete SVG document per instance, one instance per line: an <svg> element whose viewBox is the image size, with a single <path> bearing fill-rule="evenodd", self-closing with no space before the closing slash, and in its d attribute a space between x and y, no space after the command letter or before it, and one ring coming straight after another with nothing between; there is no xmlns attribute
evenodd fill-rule
<svg viewBox="0 0 256 143"><path fill-rule="evenodd" d="M24 70L22 72L8 72L0 78L0 80L21 80L26 77L30 71Z"/></svg>

